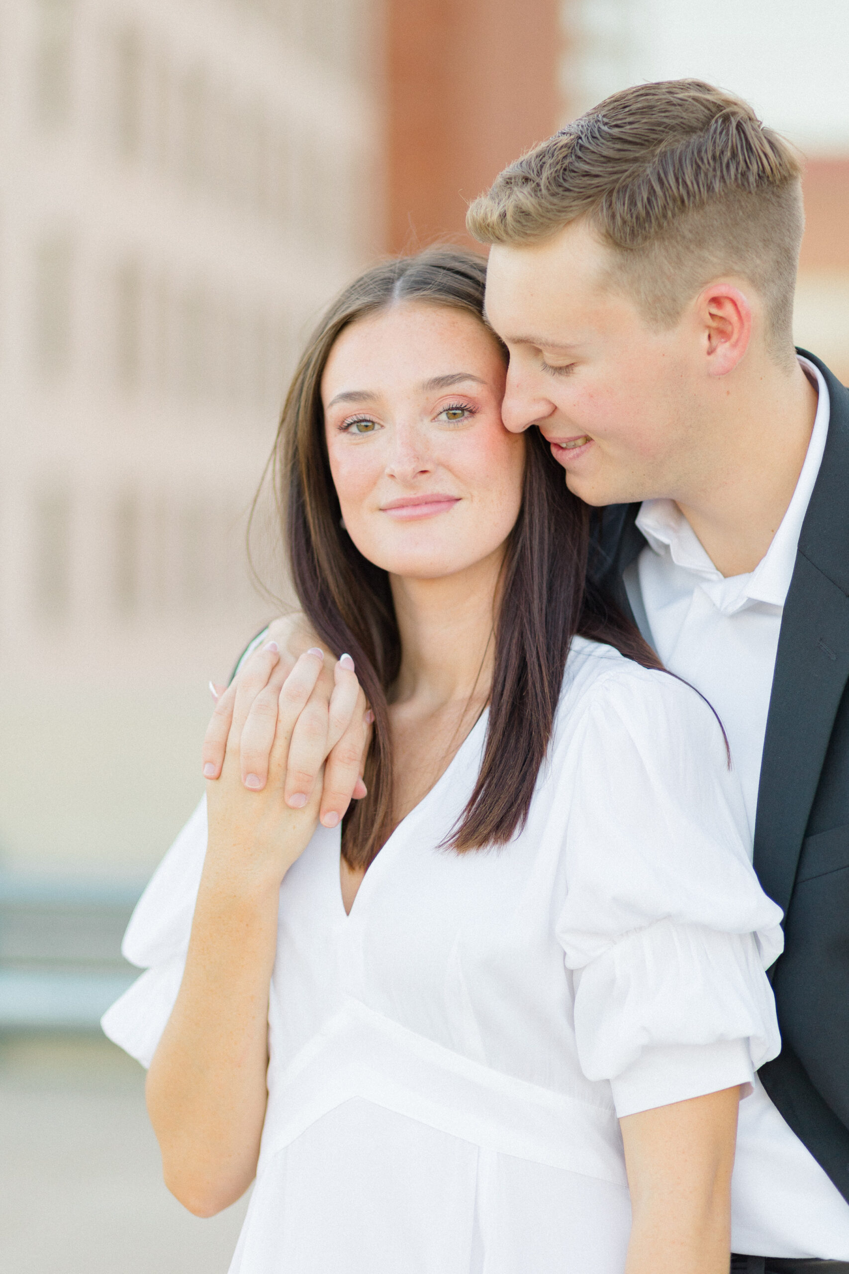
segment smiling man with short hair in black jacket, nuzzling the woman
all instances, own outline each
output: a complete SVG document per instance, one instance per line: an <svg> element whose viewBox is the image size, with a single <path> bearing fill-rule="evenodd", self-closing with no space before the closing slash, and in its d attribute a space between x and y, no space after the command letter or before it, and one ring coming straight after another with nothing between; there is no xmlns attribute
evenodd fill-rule
<svg viewBox="0 0 849 1274"><path fill-rule="evenodd" d="M849 1271L849 392L793 350L798 162L737 98L642 85L502 173L468 225L493 245L504 422L537 426L603 508L596 582L717 708L785 910L784 1047L741 1103L733 1269ZM266 735L243 747L258 782ZM353 738L326 769L328 826ZM297 761L290 790L317 766Z"/></svg>

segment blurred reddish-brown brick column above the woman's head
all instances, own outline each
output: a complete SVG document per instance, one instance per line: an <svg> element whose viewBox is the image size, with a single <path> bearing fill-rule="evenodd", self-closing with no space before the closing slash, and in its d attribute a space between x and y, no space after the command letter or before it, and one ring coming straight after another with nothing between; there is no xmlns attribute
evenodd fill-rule
<svg viewBox="0 0 849 1274"><path fill-rule="evenodd" d="M465 240L466 206L563 112L558 0L388 0L388 248Z"/></svg>

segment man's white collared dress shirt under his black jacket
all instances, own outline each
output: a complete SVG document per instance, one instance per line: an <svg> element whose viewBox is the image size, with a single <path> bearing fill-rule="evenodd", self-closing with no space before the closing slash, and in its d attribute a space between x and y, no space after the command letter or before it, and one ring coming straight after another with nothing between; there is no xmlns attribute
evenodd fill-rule
<svg viewBox="0 0 849 1274"><path fill-rule="evenodd" d="M650 499L636 517L648 547L625 572L643 634L719 713L752 834L784 601L829 432L829 387L813 363L799 363L818 391L817 413L793 498L762 561L748 575L723 578L677 505ZM740 1107L733 1222L738 1252L849 1260L849 1204L760 1083Z"/></svg>

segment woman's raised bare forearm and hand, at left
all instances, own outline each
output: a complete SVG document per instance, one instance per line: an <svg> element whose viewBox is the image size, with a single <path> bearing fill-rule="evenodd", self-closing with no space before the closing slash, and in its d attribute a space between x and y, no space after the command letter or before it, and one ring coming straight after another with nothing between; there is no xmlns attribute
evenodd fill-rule
<svg viewBox="0 0 849 1274"><path fill-rule="evenodd" d="M319 671L321 659L303 655L283 685L266 786L242 784L235 722L221 777L207 784L209 842L186 971L146 1085L165 1184L197 1215L234 1203L256 1172L280 883L309 842L321 801L318 782L305 806L286 804L286 758L295 729L313 747L322 731L326 739L330 710L311 698ZM335 680L344 711L356 678L337 665Z"/></svg>

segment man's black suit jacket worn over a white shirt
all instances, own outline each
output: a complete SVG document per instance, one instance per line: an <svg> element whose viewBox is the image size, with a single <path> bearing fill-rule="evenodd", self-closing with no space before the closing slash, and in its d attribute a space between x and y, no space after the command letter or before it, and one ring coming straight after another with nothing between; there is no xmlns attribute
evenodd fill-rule
<svg viewBox="0 0 849 1274"><path fill-rule="evenodd" d="M783 1047L759 1071L849 1200L849 390L820 359L829 437L784 605L755 822L755 870L784 908L773 968ZM630 615L639 505L598 519L592 576Z"/></svg>

